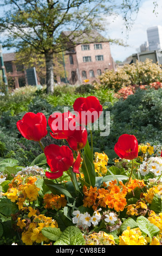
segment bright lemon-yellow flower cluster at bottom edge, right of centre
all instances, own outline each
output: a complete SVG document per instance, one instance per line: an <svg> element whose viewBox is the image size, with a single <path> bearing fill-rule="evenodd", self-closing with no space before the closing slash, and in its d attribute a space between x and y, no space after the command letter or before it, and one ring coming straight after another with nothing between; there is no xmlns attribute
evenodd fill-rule
<svg viewBox="0 0 162 256"><path fill-rule="evenodd" d="M119 245L147 245L147 241L139 228L127 227L119 236Z"/></svg>

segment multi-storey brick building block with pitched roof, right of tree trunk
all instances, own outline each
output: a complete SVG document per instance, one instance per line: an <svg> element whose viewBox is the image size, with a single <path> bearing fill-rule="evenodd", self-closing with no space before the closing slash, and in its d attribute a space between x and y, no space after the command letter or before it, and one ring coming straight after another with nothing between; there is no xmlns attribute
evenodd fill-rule
<svg viewBox="0 0 162 256"><path fill-rule="evenodd" d="M62 33L64 36L70 35L69 31ZM64 54L67 80L70 84L85 83L84 80L92 83L103 71L115 69L109 41L100 33L96 31L92 31L90 35L83 33L74 40L69 36L69 45L70 41L72 45L74 42L75 46ZM57 77L57 82L61 81Z"/></svg>

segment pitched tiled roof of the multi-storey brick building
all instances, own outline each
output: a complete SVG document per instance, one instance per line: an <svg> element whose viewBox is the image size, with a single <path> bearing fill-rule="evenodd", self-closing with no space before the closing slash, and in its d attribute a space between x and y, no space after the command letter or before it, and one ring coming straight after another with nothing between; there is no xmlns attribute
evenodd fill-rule
<svg viewBox="0 0 162 256"><path fill-rule="evenodd" d="M92 30L89 32L83 31L63 31L62 34L66 36L74 44L90 44L94 42L108 42L109 40L102 36L98 31Z"/></svg>

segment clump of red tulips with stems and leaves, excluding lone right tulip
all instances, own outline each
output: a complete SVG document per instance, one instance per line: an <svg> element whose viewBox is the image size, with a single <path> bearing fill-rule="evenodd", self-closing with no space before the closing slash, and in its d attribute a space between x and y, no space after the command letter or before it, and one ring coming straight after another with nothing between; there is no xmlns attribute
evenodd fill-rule
<svg viewBox="0 0 162 256"><path fill-rule="evenodd" d="M17 122L17 128L23 137L41 145L43 150L41 155L46 157L46 162L50 168L46 172L44 183L52 192L58 194L64 191L68 198L75 200L75 197L83 195L81 186L87 185L90 187L95 186L96 183L93 141L91 140L92 147L90 148L86 125L94 123L100 117L102 106L96 97L89 96L76 99L73 107L75 114L70 111L55 112L48 118L51 137L65 139L68 146L62 145L60 147L56 144L50 144L43 147L41 139L47 135L47 120L43 113L25 114L22 120ZM94 112L94 114L87 115L87 112ZM91 130L90 132L92 135ZM82 176L80 171L83 174ZM63 176L64 172L70 176L71 182L62 184L57 181L58 178Z"/></svg>

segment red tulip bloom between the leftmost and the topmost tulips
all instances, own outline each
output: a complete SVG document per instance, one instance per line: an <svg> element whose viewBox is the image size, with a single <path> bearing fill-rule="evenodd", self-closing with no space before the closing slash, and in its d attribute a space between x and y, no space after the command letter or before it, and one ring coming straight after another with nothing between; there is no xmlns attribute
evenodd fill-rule
<svg viewBox="0 0 162 256"><path fill-rule="evenodd" d="M53 113L48 119L52 132L50 135L55 139L67 139L75 129L75 115L70 111L65 113Z"/></svg>

